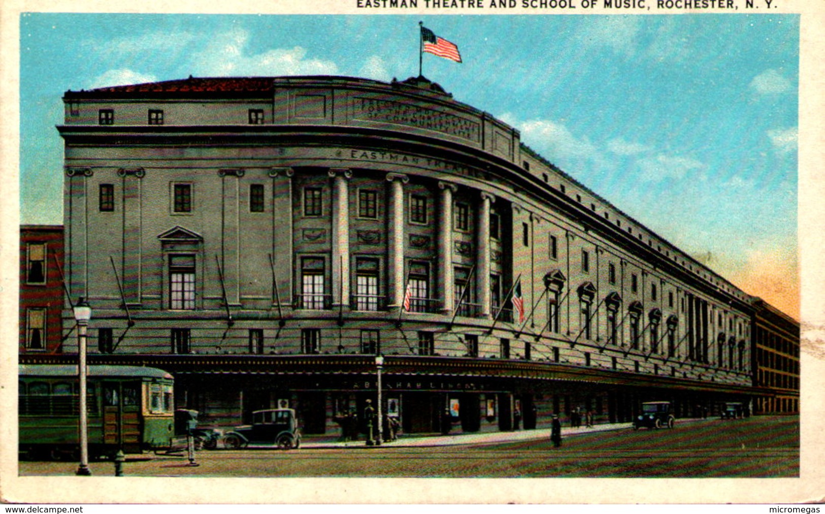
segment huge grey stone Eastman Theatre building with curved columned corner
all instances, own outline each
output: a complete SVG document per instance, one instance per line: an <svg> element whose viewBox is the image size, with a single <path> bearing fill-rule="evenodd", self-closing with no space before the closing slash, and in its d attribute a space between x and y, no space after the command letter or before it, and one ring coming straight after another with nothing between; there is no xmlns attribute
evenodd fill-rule
<svg viewBox="0 0 825 514"><path fill-rule="evenodd" d="M763 393L748 295L426 78L188 78L64 103L90 359L172 372L206 423L289 405L335 431L375 402L378 354L380 408L407 432Z"/></svg>

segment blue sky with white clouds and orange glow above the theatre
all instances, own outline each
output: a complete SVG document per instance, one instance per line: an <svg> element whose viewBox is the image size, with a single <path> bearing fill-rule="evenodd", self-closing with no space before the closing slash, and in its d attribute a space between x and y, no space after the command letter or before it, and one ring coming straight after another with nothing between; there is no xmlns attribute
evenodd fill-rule
<svg viewBox="0 0 825 514"><path fill-rule="evenodd" d="M798 316L799 17L21 17L21 223L62 223L68 89L232 75L423 74L620 210Z"/></svg>

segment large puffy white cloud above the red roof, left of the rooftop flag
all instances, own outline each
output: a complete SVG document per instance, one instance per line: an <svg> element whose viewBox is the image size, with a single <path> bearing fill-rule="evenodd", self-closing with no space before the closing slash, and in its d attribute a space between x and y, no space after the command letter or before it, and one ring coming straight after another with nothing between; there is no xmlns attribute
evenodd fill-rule
<svg viewBox="0 0 825 514"><path fill-rule="evenodd" d="M192 54L191 73L200 76L333 75L338 67L331 61L306 59L307 50L266 50L247 54L249 33L233 29L210 38L203 50Z"/></svg>

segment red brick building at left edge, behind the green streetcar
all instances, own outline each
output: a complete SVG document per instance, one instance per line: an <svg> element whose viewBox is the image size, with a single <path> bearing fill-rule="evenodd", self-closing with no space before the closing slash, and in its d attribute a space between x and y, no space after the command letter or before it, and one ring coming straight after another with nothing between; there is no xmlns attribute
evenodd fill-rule
<svg viewBox="0 0 825 514"><path fill-rule="evenodd" d="M20 227L20 353L60 353L63 227Z"/></svg>

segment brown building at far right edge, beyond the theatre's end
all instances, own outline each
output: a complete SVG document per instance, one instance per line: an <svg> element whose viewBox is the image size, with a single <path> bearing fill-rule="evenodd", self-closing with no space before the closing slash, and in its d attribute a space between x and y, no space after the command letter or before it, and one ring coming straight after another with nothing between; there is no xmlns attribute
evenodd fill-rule
<svg viewBox="0 0 825 514"><path fill-rule="evenodd" d="M799 322L754 298L753 384L756 413L799 413Z"/></svg>

